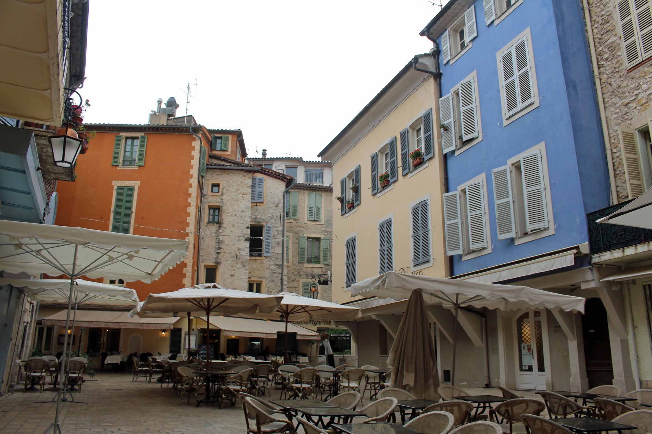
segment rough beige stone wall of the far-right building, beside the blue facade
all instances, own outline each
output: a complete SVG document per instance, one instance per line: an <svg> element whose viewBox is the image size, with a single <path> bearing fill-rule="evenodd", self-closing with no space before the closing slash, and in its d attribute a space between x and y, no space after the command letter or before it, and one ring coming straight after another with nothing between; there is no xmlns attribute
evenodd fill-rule
<svg viewBox="0 0 652 434"><path fill-rule="evenodd" d="M612 148L617 202L621 202L629 195L618 132L620 127L640 128L652 119L652 62L647 59L627 71L614 1L589 0L588 3Z"/></svg>

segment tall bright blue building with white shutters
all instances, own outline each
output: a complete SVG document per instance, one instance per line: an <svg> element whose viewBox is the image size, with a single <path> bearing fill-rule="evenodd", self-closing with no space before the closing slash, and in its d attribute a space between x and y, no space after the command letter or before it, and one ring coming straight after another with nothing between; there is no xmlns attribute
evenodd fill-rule
<svg viewBox="0 0 652 434"><path fill-rule="evenodd" d="M610 184L582 2L451 0L421 35L439 66L451 275L587 298L584 317L485 310L484 345L462 323L478 359L462 360L456 379L481 384L484 356L484 383L631 390L621 295L587 255L585 215L608 206Z"/></svg>

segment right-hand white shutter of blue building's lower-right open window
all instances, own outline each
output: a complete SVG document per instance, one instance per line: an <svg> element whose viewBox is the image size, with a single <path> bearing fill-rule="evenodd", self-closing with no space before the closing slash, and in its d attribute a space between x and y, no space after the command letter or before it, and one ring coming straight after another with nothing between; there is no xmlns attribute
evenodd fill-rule
<svg viewBox="0 0 652 434"><path fill-rule="evenodd" d="M521 157L523 195L526 210L526 232L548 227L546 207L546 185L543 180L541 152L533 152Z"/></svg>

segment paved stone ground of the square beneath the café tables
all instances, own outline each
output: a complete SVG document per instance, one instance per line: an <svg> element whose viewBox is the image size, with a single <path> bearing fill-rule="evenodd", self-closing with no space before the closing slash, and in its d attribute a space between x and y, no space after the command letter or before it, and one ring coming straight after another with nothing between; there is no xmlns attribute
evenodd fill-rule
<svg viewBox="0 0 652 434"><path fill-rule="evenodd" d="M235 407L225 403L223 409L217 405L196 407L194 397L190 405L187 398L177 405L179 397L171 387L161 388L159 383L143 379L132 382L131 378L129 373L98 373L94 378L98 381L84 383L75 399L86 404L61 403L63 433L246 433L239 401ZM468 392L500 394L497 389L469 388ZM278 390L271 393L272 399L278 399ZM54 396L55 392L23 392L21 385L0 397L0 433L44 433L54 420L56 403L35 401Z"/></svg>

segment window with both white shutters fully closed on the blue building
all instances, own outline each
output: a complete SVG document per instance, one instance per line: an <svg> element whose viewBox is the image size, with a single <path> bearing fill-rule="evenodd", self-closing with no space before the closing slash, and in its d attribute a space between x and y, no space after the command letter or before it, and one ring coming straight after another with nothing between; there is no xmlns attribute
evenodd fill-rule
<svg viewBox="0 0 652 434"><path fill-rule="evenodd" d="M539 107L529 27L497 53L503 126ZM518 115L518 116L516 116Z"/></svg>

